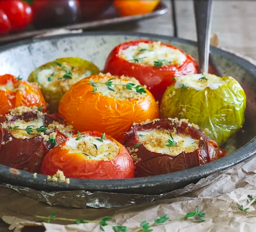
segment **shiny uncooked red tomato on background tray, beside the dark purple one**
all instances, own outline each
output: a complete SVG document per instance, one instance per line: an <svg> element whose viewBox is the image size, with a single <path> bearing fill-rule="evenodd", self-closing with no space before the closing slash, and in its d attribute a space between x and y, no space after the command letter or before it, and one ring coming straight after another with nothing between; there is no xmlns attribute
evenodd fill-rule
<svg viewBox="0 0 256 232"><path fill-rule="evenodd" d="M0 0L0 9L7 15L12 30L22 30L32 22L32 9L22 0Z"/></svg>

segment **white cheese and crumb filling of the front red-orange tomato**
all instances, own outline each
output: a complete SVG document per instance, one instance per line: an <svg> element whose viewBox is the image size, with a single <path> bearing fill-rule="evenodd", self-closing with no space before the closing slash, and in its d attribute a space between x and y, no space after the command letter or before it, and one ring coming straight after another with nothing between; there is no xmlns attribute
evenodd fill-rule
<svg viewBox="0 0 256 232"><path fill-rule="evenodd" d="M91 160L112 160L118 156L119 147L114 142L103 139L97 140L100 137L94 137L90 135L81 135L78 137L69 138L62 149L69 150L68 153L81 153L87 159Z"/></svg>

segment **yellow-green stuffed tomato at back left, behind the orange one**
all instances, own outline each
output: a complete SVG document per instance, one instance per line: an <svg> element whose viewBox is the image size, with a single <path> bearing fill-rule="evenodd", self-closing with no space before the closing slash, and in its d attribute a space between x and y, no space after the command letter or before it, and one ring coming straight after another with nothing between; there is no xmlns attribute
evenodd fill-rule
<svg viewBox="0 0 256 232"><path fill-rule="evenodd" d="M36 68L28 78L38 82L50 113L58 112L59 100L70 87L79 80L99 73L91 62L80 58L60 58Z"/></svg>

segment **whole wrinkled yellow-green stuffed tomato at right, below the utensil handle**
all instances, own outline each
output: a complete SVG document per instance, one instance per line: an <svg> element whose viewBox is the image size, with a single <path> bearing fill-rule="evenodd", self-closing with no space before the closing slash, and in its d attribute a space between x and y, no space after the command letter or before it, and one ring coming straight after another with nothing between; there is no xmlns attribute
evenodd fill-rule
<svg viewBox="0 0 256 232"><path fill-rule="evenodd" d="M160 112L197 124L221 146L243 125L245 108L244 90L234 78L203 73L175 77Z"/></svg>

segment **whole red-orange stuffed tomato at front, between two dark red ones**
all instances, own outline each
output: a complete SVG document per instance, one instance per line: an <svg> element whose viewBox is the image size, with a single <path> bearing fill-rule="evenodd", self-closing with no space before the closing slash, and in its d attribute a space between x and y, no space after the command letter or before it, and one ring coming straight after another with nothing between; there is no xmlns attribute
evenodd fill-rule
<svg viewBox="0 0 256 232"><path fill-rule="evenodd" d="M134 177L134 164L127 149L100 132L82 132L54 147L45 156L40 172L54 175L58 170L68 178Z"/></svg>

